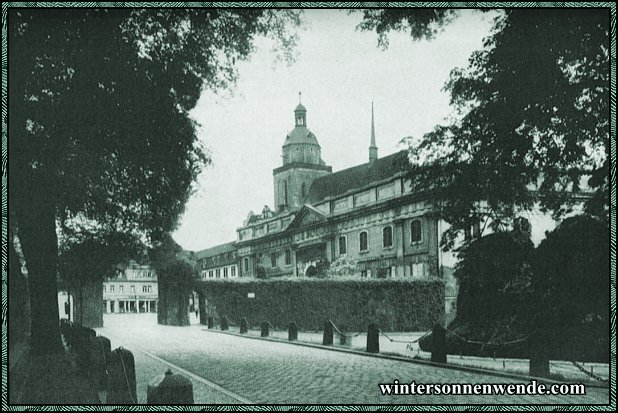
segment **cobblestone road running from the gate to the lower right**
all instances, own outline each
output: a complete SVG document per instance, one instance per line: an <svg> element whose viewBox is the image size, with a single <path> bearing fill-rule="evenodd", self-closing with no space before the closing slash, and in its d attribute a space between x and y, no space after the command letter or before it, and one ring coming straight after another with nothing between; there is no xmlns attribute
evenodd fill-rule
<svg viewBox="0 0 618 413"><path fill-rule="evenodd" d="M205 394L197 403L237 403L233 395L274 404L607 404L608 389L587 388L584 396L383 396L379 383L522 383L501 377L236 337L202 326L159 326L151 315L111 315L100 334L163 359L215 383L232 395ZM151 357L136 358L138 370L154 371ZM157 362L160 363L160 362ZM144 367L141 367L141 364ZM161 364L159 364L161 366ZM139 375L138 371L138 375ZM142 374L142 377L144 375ZM138 379L139 381L139 379ZM525 382L528 384L528 382ZM201 384L200 384L201 385ZM139 391L139 390L138 390ZM143 399L143 397L140 397Z"/></svg>

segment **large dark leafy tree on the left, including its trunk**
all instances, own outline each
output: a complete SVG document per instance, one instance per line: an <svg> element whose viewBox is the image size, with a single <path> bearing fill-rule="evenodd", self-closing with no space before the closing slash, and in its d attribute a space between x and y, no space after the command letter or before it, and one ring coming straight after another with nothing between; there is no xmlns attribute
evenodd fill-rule
<svg viewBox="0 0 618 413"><path fill-rule="evenodd" d="M9 208L33 352L61 349L58 224L173 230L209 162L188 115L202 89L233 83L257 35L289 52L298 24L261 9L9 10Z"/></svg>

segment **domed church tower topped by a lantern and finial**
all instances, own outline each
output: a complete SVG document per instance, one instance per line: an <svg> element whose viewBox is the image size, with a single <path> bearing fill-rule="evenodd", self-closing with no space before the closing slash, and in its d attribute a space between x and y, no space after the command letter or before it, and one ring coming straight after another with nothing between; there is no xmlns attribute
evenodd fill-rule
<svg viewBox="0 0 618 413"><path fill-rule="evenodd" d="M307 128L307 109L300 102L294 109L294 129L282 147L283 166L273 170L277 211L298 210L305 204L314 179L332 173L322 160L321 148Z"/></svg>

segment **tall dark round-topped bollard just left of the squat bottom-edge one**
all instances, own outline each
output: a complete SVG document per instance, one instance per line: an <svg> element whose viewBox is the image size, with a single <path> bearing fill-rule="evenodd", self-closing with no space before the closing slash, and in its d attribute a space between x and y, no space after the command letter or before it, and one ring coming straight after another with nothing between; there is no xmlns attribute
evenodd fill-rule
<svg viewBox="0 0 618 413"><path fill-rule="evenodd" d="M107 404L137 404L135 359L122 347L112 351L107 362L109 395Z"/></svg>

